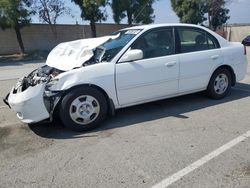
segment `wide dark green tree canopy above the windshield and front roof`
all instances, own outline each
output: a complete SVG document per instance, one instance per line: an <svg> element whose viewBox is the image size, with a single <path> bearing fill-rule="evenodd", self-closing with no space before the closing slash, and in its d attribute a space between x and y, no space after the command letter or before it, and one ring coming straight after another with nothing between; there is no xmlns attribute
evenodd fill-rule
<svg viewBox="0 0 250 188"><path fill-rule="evenodd" d="M127 17L128 24L154 22L154 9L152 7L155 0L113 0L111 8L113 18L116 23Z"/></svg>

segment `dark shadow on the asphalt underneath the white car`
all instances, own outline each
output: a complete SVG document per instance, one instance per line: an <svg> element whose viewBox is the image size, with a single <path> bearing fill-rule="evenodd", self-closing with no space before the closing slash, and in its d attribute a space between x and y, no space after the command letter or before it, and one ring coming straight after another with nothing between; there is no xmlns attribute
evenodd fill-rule
<svg viewBox="0 0 250 188"><path fill-rule="evenodd" d="M212 100L203 93L185 95L172 99L151 102L134 107L117 110L114 117L109 117L99 128L88 133L77 133L61 126L61 123L33 124L30 129L44 138L73 139L81 137L95 137L105 130L126 127L141 122L152 121L166 117L189 118L183 114L202 108L236 101L250 96L250 85L239 83L231 94L222 100ZM91 133L91 134L90 134Z"/></svg>

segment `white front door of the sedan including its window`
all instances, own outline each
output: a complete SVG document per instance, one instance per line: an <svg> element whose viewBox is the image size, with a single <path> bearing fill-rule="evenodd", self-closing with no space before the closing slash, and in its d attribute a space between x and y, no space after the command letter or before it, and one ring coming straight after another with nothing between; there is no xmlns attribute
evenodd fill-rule
<svg viewBox="0 0 250 188"><path fill-rule="evenodd" d="M143 58L116 64L119 104L129 106L176 94L179 58L175 54L173 28L142 34L129 50L133 49L142 50Z"/></svg>

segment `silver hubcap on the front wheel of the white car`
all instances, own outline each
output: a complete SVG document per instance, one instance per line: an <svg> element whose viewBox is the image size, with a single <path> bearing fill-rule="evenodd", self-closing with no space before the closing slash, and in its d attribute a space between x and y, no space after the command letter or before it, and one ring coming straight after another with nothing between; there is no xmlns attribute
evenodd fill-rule
<svg viewBox="0 0 250 188"><path fill-rule="evenodd" d="M100 113L100 105L96 98L89 95L77 97L70 105L71 119L81 125L93 122Z"/></svg>

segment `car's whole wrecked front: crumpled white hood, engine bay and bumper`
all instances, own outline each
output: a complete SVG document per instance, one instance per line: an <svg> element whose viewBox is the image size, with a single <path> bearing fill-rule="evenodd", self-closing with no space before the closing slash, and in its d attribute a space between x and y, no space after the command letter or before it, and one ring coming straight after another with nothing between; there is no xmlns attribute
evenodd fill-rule
<svg viewBox="0 0 250 188"><path fill-rule="evenodd" d="M63 72L100 63L105 48L100 45L115 36L82 39L61 43L48 55L46 65L19 79L4 102L25 123L52 120L64 91L52 89Z"/></svg>

